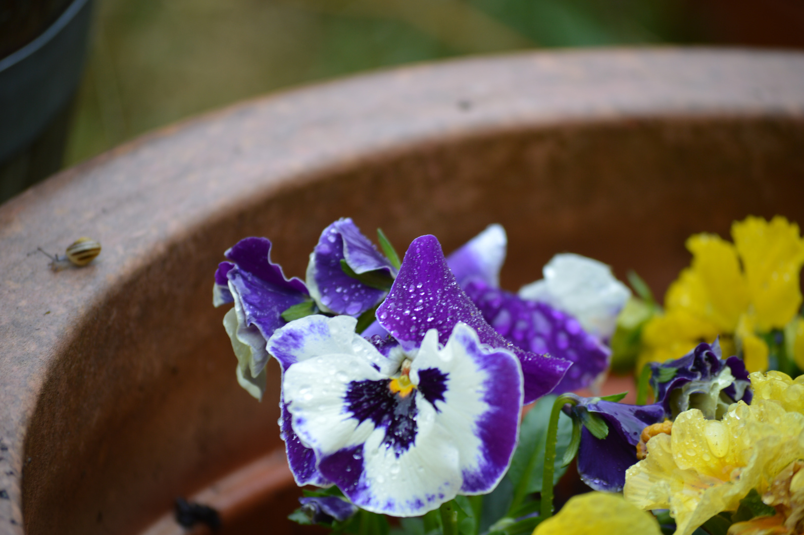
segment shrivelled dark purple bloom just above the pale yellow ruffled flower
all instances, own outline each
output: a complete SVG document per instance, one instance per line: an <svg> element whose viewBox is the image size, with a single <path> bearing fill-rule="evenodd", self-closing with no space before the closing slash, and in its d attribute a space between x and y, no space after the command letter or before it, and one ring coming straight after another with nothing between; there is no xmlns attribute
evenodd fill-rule
<svg viewBox="0 0 804 535"><path fill-rule="evenodd" d="M727 388L721 390L729 397L728 403L735 401L751 401L751 391L748 388L751 384L749 374L745 369L745 364L736 356L729 357L728 360L721 358L720 341L715 340L713 344L698 344L695 349L687 355L676 360L667 362L652 362L649 364L652 377L650 385L656 393L656 401L662 403L668 416L678 414L679 393L674 392L683 389L683 395L691 397L695 393L708 395L709 383L714 381L728 366L734 376L735 381ZM669 377L666 381L660 381L663 376ZM693 383L693 385L690 385ZM714 418L714 415L708 415Z"/></svg>

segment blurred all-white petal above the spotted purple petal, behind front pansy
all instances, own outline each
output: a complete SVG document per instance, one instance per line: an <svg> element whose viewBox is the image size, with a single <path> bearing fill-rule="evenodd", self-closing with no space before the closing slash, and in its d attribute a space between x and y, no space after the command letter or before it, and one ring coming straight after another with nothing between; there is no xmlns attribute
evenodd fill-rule
<svg viewBox="0 0 804 535"><path fill-rule="evenodd" d="M579 254L556 254L544 266L544 279L519 290L519 297L546 302L574 316L584 330L601 339L613 335L617 315L631 295L611 268Z"/></svg>

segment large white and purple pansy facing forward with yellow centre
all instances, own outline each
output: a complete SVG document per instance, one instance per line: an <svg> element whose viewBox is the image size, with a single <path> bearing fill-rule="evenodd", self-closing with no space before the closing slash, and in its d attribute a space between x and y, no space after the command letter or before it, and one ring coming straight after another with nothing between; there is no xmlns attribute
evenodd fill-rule
<svg viewBox="0 0 804 535"><path fill-rule="evenodd" d="M269 340L293 431L322 479L394 516L490 492L515 449L523 384L547 393L569 363L503 340L432 236L412 242L377 317L393 338L367 340L353 318L312 315Z"/></svg>

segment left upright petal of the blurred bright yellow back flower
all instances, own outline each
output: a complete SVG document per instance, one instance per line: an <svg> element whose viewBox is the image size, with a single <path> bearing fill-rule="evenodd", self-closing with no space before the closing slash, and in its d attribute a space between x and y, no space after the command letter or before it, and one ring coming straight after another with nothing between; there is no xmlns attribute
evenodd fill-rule
<svg viewBox="0 0 804 535"><path fill-rule="evenodd" d="M711 323L718 334L734 332L749 306L748 285L734 245L715 234L696 234L687 240L687 249L692 264L667 290L667 310L683 309Z"/></svg>

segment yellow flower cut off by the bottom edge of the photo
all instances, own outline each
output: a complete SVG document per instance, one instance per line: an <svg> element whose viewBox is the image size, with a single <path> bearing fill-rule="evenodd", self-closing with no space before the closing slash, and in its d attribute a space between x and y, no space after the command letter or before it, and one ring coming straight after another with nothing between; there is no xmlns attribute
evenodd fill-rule
<svg viewBox="0 0 804 535"><path fill-rule="evenodd" d="M533 535L659 535L658 522L619 494L588 492L572 497L556 516L536 526Z"/></svg>

